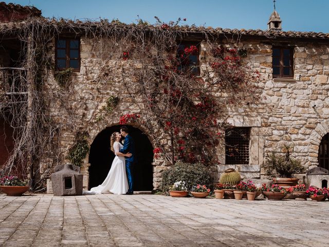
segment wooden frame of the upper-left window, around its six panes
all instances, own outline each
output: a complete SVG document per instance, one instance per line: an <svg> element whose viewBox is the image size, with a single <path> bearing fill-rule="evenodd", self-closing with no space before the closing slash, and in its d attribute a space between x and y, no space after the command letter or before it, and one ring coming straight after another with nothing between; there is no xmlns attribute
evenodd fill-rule
<svg viewBox="0 0 329 247"><path fill-rule="evenodd" d="M57 42L58 40L65 40L66 45L65 48L58 48L57 47ZM78 48L70 48L70 41L78 41ZM65 50L65 68L59 68L58 67L58 63L57 63L57 51L58 50ZM78 50L78 58L77 59L71 59L70 58L70 50ZM64 58L60 58L60 59L64 59ZM80 56L80 38L67 38L67 37L61 37L59 39L55 40L55 63L56 63L56 70L58 71L62 71L65 69L70 68L70 60L77 60L79 66L77 68L72 68L72 70L74 72L80 72L80 67L81 67L81 56Z"/></svg>

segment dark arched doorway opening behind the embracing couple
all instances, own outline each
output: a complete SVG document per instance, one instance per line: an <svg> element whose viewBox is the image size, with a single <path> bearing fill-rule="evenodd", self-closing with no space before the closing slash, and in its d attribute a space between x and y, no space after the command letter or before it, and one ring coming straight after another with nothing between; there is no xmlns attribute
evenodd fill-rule
<svg viewBox="0 0 329 247"><path fill-rule="evenodd" d="M102 130L94 139L89 152L89 189L100 185L111 168L115 157L109 147L113 132L120 132L120 125ZM148 136L141 130L128 126L135 140L137 163L133 168L134 190L153 189L153 147Z"/></svg>

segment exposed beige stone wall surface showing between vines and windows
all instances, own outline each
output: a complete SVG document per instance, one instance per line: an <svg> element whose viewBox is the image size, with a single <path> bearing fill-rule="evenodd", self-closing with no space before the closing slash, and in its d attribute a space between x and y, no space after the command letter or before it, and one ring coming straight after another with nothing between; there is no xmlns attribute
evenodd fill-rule
<svg viewBox="0 0 329 247"><path fill-rule="evenodd" d="M317 165L318 147L321 138L329 132L329 49L326 44L291 42L294 48L294 78L272 78L272 44L275 41L250 41L243 40L239 44L247 49L246 61L261 74L259 86L261 88L261 101L258 104L241 102L239 106L228 108L230 117L228 122L236 127L250 127L249 165L225 165L225 150L218 147L218 157L221 165L213 166L212 172L215 181L220 173L227 168L237 168L244 178L260 178L264 174L262 164L265 154L269 151L281 152L284 143L293 144L293 156L299 158L305 167ZM227 45L229 46L229 45ZM54 48L50 47L50 53L54 54ZM207 54L207 45L202 43L203 57ZM111 70L111 81L98 81L102 59L95 53L95 44L92 39L81 38L81 71L74 73L74 89L70 94L63 93L62 100L71 102L71 110L75 111L74 119L65 119L66 113L61 112L58 106L61 100L55 97L49 103L49 114L54 121L69 121L78 123L78 126L87 130L90 134L89 143L93 142L96 135L104 128L118 125L120 114L139 113L134 100L127 93L124 83L134 86L131 78L122 78L121 71ZM53 57L53 56L52 56ZM118 63L118 61L115 61ZM207 58L200 59L201 70L205 68ZM126 67L136 67L136 64L125 63ZM124 80L124 83L123 83ZM49 77L47 89L53 94L60 89L52 76ZM115 111L105 115L104 119L97 120L103 114L103 106L107 97L119 96L120 101ZM136 98L135 100L141 100ZM72 125L73 126L73 125ZM142 126L140 126L143 129ZM65 128L60 133L60 153L62 162L68 148L74 143L74 134L77 129ZM150 133L147 133L150 134ZM154 146L154 137L149 135ZM158 133L162 143L168 142L165 133ZM47 157L45 157L47 158ZM45 160L46 161L46 160ZM85 175L84 186L88 181L88 158L82 167ZM41 167L49 164L41 162ZM166 169L163 160L154 161L154 187L160 182L161 171ZM41 169L43 171L44 169Z"/></svg>

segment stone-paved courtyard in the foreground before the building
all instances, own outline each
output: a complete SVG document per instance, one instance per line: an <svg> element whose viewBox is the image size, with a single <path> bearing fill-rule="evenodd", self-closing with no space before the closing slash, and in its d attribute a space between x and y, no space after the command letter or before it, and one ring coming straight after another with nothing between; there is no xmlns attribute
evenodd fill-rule
<svg viewBox="0 0 329 247"><path fill-rule="evenodd" d="M329 246L329 202L0 195L1 246Z"/></svg>

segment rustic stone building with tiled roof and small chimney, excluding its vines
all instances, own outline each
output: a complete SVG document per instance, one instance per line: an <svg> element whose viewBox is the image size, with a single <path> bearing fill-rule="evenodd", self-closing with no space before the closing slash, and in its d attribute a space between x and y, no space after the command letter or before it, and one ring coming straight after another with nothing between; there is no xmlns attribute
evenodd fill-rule
<svg viewBox="0 0 329 247"><path fill-rule="evenodd" d="M3 5L0 4L0 7ZM13 8L29 10L28 7ZM8 18L1 19L1 22L2 30L17 24L16 21L10 22ZM126 27L131 28L130 25ZM282 31L281 19L276 11L270 16L268 30L181 28L189 34L189 43L199 47L200 52L195 63L201 78L207 66L207 44L203 40L205 30L222 37L223 45L227 47L230 47L230 41L239 39L237 44L246 50L248 63L259 71L262 78L259 82L262 90L260 103L228 108L228 122L247 137L236 135L226 138L226 142L236 148L233 151L224 146L218 149L221 164L211 167L214 181L221 172L231 167L239 169L245 178L261 178L266 153L282 152L284 143L294 146L293 156L301 160L305 167L329 168L329 34ZM2 83L5 81L4 72L15 70L19 66L15 61L18 61L20 42L17 37L10 37L9 34L5 38L0 39ZM57 136L57 160L45 152L38 162L41 177L51 172L56 163L67 161L67 152L75 142L77 130L69 128L69 123L73 120L62 117L65 112L60 105L65 101L72 102L69 110L74 111L79 127L88 132L86 138L90 152L82 164L85 187L99 184L109 170L109 166L104 165L113 160L113 154L108 150L109 136L118 131L120 114L139 113L134 100L125 90L125 83L133 86L134 82L130 78L124 79L121 73L111 70L113 81L101 84L100 89L97 78L105 60L97 56L97 42L97 37L77 36L74 29L66 30L63 36L49 42L49 59L57 68L48 75L45 82L44 93L49 95L46 112L52 121L65 121L65 125L63 124ZM126 66L131 67L129 63ZM68 67L73 68L71 77L74 81L74 94L65 94L65 90L61 90L56 81L56 69ZM63 97L53 100L51 96L57 91ZM118 95L120 101L117 107L111 114L104 114L108 97ZM1 130L7 132L8 136L11 135L9 127ZM168 166L165 161L153 157L155 140L150 133L145 132L143 126L132 125L131 131L140 152L140 162L135 171L135 190L151 190L159 185L161 172ZM157 133L156 136L164 141L168 138L166 133ZM0 148L7 150L3 140ZM236 152L236 155L231 157L230 152Z"/></svg>

